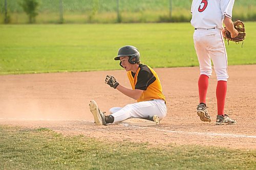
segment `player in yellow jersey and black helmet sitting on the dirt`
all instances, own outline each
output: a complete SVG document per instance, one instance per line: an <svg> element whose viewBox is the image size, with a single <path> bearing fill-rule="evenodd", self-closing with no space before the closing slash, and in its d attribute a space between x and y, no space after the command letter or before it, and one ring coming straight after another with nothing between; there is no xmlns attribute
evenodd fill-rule
<svg viewBox="0 0 256 170"><path fill-rule="evenodd" d="M165 96L156 72L147 65L140 63L140 53L134 46L127 45L119 49L115 60L120 60L120 66L127 71L132 89L119 84L113 76L106 76L105 83L121 93L137 100L137 103L110 109L110 115L104 115L96 102L91 101L90 110L96 125L121 122L130 117L145 118L155 121L166 115Z"/></svg>

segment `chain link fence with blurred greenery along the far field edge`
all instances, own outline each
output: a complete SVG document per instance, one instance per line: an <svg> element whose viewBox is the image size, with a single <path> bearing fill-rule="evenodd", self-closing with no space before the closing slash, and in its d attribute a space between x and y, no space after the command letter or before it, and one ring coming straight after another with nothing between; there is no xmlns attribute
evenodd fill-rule
<svg viewBox="0 0 256 170"><path fill-rule="evenodd" d="M0 23L28 23L25 0L0 0ZM116 23L190 21L192 0L34 0L35 23ZM237 0L233 18L256 20L256 1Z"/></svg>

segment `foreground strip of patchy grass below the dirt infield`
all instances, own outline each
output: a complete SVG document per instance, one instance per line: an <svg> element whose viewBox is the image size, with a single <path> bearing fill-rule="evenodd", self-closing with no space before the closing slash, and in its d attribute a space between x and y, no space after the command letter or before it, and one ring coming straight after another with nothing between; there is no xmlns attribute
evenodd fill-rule
<svg viewBox="0 0 256 170"><path fill-rule="evenodd" d="M255 151L63 136L0 126L0 169L254 169Z"/></svg>

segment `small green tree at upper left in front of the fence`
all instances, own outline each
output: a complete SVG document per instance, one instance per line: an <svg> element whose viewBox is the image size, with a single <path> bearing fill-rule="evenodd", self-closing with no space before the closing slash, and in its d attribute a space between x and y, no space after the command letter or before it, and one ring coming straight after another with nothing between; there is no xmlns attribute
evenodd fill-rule
<svg viewBox="0 0 256 170"><path fill-rule="evenodd" d="M19 5L29 16L29 23L34 23L35 17L38 15L37 10L39 3L36 0L23 0Z"/></svg>

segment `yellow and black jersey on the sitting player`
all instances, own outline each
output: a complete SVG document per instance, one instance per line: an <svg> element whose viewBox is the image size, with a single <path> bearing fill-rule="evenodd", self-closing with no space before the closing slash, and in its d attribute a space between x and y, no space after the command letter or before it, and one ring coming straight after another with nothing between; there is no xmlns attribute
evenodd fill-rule
<svg viewBox="0 0 256 170"><path fill-rule="evenodd" d="M131 70L127 71L127 76L133 90L144 90L137 102L150 101L153 99L162 99L165 101L160 80L156 72L150 66L140 64L135 73Z"/></svg>

